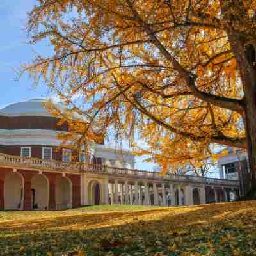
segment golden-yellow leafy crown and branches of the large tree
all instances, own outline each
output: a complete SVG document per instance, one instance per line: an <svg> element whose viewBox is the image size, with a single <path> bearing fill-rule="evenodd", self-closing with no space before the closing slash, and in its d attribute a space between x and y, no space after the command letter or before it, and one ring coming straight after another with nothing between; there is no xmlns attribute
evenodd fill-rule
<svg viewBox="0 0 256 256"><path fill-rule="evenodd" d="M54 108L75 141L111 127L177 159L210 143L245 148L255 186L255 9L255 0L38 0L26 30L53 53L23 70L65 102L65 113Z"/></svg>

